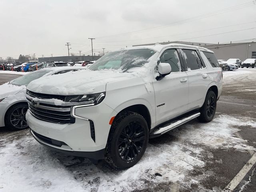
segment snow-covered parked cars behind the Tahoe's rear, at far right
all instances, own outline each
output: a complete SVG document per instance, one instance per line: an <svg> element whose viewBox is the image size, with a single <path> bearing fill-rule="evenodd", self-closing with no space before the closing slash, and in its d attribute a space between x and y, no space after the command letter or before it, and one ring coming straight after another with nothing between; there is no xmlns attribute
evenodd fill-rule
<svg viewBox="0 0 256 192"><path fill-rule="evenodd" d="M254 68L256 64L256 59L251 58L251 59L246 59L244 61L241 61L239 58L236 59L228 59L227 61L220 59L218 60L220 67L222 68L223 71L232 71L236 70L238 68Z"/></svg>

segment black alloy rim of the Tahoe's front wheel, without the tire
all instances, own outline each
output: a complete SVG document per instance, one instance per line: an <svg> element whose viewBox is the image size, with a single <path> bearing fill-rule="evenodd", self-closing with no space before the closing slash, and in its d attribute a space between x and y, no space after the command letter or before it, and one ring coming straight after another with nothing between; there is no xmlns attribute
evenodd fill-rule
<svg viewBox="0 0 256 192"><path fill-rule="evenodd" d="M124 127L118 138L119 157L126 162L134 160L141 152L144 142L145 132L141 124L130 122Z"/></svg>

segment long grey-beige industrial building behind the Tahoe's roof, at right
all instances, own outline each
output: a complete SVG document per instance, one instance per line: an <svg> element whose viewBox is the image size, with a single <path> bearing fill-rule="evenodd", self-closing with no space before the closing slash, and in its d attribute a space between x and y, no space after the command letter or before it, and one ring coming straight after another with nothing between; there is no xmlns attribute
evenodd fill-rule
<svg viewBox="0 0 256 192"><path fill-rule="evenodd" d="M244 61L248 58L256 58L256 42L241 42L241 43L228 43L228 44L212 44L212 43L199 43L199 42L184 42L184 41L173 41L173 42L162 42L159 44L187 44L194 46L202 46L214 51L218 59L228 60L229 58L239 58ZM134 46L146 46L154 45L152 44L142 44Z"/></svg>

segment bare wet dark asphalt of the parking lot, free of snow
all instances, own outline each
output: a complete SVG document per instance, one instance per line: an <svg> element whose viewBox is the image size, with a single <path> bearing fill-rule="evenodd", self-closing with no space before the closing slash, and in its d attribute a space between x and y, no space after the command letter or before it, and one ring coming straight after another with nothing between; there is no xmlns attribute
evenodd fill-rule
<svg viewBox="0 0 256 192"><path fill-rule="evenodd" d="M14 74L0 74L0 84L8 82L12 79L18 78L20 75ZM234 79L232 83L223 83L223 92L220 100L217 103L217 114L226 114L234 116L236 118L255 118L256 119L256 69L253 74L248 74L250 78L244 76L243 78ZM252 78L254 76L255 78ZM248 80L250 79L250 80ZM1 128L0 136L6 133L6 128ZM252 127L239 127L239 135L242 139L247 140L248 144L256 148L256 129ZM20 132L22 136L22 131ZM170 133L171 135L171 133ZM156 138L150 142L162 142L162 140L172 140L171 136L163 136L162 138ZM243 166L251 158L252 154L239 152L232 148L228 150L211 150L210 151L216 160L222 159L222 164L214 163L211 159L211 163L208 163L205 159L206 166L204 168L194 169L190 172L191 176L198 176L205 172L213 172L209 177L201 183L205 189L221 191L228 183L236 176L236 174L243 168ZM243 188L243 192L256 192L256 165L246 174L244 179L236 187L234 192L239 192L241 187L249 179L251 182ZM153 188L147 188L140 190L140 192L148 191L179 191L179 192L203 192L202 188L199 188L197 184L193 184L190 188L182 188L182 186L174 186L176 184L163 183L154 186ZM218 188L216 188L218 186Z"/></svg>

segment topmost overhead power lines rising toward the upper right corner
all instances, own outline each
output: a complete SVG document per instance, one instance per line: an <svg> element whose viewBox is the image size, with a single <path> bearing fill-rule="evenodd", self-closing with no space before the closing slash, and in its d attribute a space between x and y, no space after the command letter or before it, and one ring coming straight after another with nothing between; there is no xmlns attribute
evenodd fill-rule
<svg viewBox="0 0 256 192"><path fill-rule="evenodd" d="M136 30L136 31L132 31L132 32L126 32L126 33L109 35L109 36L101 36L101 37L97 37L97 38L109 38L109 37L113 37L113 36L127 35L127 34L131 34L131 33L138 33L138 32L143 32L143 31L155 30L155 29L159 29L159 28L165 28L165 27L168 27L168 26L183 24L183 23L186 23L186 22L199 20L201 18L206 18L206 17L214 16L214 15L217 15L217 14L222 14L222 13L229 12L229 11L234 11L234 10L241 9L241 8L246 8L246 7L251 6L253 4L254 4L254 1L250 1L250 2L247 2L247 3L239 4L239 5L232 6L232 7L229 7L229 8L225 8L225 9L222 9L222 10L217 10L217 11L214 11L214 12L210 12L210 13L194 16L194 17L191 17L191 18L187 18L187 19L184 19L184 20L179 20L179 21L176 21L176 22L172 22L168 25L157 26L157 27L153 27L153 28L147 28L147 29L143 29L143 30Z"/></svg>

